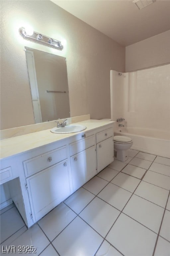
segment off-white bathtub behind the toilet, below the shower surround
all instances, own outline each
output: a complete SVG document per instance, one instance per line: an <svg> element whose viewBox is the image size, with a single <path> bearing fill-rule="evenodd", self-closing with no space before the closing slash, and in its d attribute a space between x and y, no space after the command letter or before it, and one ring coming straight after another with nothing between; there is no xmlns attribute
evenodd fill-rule
<svg viewBox="0 0 170 256"><path fill-rule="evenodd" d="M123 135L132 139L131 149L170 158L170 132L120 127L114 136Z"/></svg>

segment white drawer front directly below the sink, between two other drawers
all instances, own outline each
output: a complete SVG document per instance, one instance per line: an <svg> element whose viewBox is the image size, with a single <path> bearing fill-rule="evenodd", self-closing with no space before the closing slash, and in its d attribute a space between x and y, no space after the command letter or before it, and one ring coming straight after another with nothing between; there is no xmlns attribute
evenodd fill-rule
<svg viewBox="0 0 170 256"><path fill-rule="evenodd" d="M85 139L73 142L69 145L70 148L70 156L77 154L96 144L95 135L91 135Z"/></svg>

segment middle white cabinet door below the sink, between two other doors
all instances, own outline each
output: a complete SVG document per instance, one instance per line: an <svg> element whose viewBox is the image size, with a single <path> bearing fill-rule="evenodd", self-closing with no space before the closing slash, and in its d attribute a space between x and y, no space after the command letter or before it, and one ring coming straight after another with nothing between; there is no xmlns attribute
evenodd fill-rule
<svg viewBox="0 0 170 256"><path fill-rule="evenodd" d="M70 160L72 184L75 191L97 173L96 147L90 147L70 157Z"/></svg>

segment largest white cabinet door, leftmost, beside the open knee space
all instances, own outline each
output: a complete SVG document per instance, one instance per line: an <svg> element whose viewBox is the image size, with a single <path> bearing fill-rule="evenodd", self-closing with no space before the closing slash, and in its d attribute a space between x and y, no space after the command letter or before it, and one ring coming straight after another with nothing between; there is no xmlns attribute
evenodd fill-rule
<svg viewBox="0 0 170 256"><path fill-rule="evenodd" d="M34 222L71 193L67 160L26 179Z"/></svg>

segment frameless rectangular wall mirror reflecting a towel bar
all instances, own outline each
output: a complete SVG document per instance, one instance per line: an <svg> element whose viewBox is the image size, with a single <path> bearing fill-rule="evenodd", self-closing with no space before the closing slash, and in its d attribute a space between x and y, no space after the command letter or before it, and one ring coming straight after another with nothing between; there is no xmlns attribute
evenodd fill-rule
<svg viewBox="0 0 170 256"><path fill-rule="evenodd" d="M35 123L70 117L64 57L25 47Z"/></svg>

